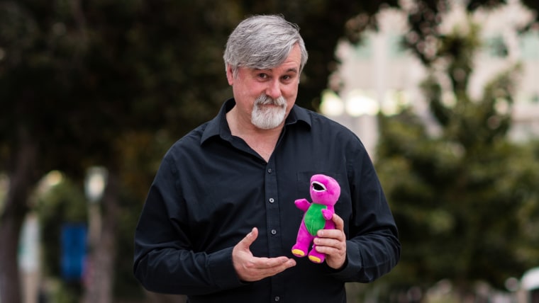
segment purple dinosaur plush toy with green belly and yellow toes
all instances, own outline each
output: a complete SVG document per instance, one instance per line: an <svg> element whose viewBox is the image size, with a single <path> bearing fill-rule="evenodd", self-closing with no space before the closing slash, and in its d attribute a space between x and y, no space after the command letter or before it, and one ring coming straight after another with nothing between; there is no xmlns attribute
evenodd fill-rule
<svg viewBox="0 0 539 303"><path fill-rule="evenodd" d="M316 233L320 229L335 229L335 223L331 217L335 213L335 203L340 196L340 186L335 179L326 175L314 175L311 177L311 199L298 199L294 201L296 207L305 212L299 226L296 244L292 246L292 253L296 257L304 257L309 253L309 260L314 263L323 263L326 260L324 253L316 251L313 244ZM309 251L309 248L312 249Z"/></svg>

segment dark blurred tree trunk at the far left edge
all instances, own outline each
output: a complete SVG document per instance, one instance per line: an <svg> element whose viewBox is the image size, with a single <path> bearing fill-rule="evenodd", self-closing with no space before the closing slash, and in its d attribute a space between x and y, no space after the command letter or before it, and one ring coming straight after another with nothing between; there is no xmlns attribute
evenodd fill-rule
<svg viewBox="0 0 539 303"><path fill-rule="evenodd" d="M18 273L18 242L28 212L28 197L39 181L36 169L38 148L28 134L18 134L19 146L13 150L9 168L9 190L0 214L0 302L21 302L21 279Z"/></svg>

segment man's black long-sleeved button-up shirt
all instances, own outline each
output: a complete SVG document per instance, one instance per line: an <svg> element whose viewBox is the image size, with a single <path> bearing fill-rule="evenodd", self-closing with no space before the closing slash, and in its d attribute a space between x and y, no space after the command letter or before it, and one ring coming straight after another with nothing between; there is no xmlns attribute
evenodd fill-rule
<svg viewBox="0 0 539 303"><path fill-rule="evenodd" d="M135 276L189 302L345 302L345 282L370 282L399 260L397 229L365 147L350 130L294 105L268 162L230 134L227 101L179 139L152 183L135 231ZM335 178L347 261L341 270L296 258L258 282L238 279L232 249L257 227L254 256L289 256L313 174Z"/></svg>

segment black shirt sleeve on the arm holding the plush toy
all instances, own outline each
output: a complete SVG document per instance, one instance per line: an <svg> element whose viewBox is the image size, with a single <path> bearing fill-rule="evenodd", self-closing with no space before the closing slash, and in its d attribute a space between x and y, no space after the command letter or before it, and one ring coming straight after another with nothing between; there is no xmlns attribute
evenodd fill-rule
<svg viewBox="0 0 539 303"><path fill-rule="evenodd" d="M372 161L365 151L356 154L348 170L354 215L348 224L347 259L332 275L345 282L372 282L396 266L401 244Z"/></svg>

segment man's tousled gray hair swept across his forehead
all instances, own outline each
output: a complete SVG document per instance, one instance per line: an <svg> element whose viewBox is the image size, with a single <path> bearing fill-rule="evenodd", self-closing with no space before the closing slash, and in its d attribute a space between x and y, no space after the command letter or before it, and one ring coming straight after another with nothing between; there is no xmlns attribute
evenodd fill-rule
<svg viewBox="0 0 539 303"><path fill-rule="evenodd" d="M242 21L228 37L223 55L225 68L232 67L234 76L239 67L270 69L289 56L292 47L299 45L301 62L299 73L307 62L305 42L299 35L299 26L282 16L252 16Z"/></svg>

